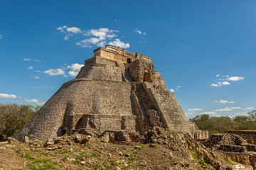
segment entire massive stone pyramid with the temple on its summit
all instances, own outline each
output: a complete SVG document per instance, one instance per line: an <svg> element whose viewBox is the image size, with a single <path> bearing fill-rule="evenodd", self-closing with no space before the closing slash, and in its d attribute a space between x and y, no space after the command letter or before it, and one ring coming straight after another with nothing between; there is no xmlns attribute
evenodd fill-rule
<svg viewBox="0 0 256 170"><path fill-rule="evenodd" d="M94 50L77 77L65 82L15 138L43 140L106 132L144 135L154 127L208 138L207 131L187 120L151 57L106 45Z"/></svg>

